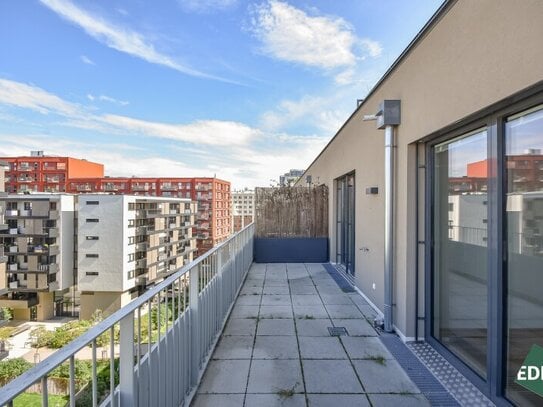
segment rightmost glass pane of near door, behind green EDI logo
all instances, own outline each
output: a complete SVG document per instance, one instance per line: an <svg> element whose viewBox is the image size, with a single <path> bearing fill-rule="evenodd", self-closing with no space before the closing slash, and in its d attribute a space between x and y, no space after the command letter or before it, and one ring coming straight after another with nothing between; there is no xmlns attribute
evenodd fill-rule
<svg viewBox="0 0 543 407"><path fill-rule="evenodd" d="M505 127L507 176L507 385L522 406L543 398L514 383L531 346L543 346L543 110Z"/></svg>

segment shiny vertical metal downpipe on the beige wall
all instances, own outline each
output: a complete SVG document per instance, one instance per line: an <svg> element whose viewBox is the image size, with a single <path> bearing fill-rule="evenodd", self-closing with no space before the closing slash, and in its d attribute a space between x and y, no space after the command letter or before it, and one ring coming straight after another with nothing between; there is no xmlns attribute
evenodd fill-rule
<svg viewBox="0 0 543 407"><path fill-rule="evenodd" d="M393 331L394 289L394 171L396 143L394 126L385 127L385 331Z"/></svg>

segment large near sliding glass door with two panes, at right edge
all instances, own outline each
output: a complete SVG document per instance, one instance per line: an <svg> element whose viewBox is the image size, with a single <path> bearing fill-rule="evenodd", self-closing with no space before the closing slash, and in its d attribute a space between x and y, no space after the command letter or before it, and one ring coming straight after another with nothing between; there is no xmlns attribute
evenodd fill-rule
<svg viewBox="0 0 543 407"><path fill-rule="evenodd" d="M543 388L518 376L530 352L543 352L543 105L534 104L481 117L484 127L444 136L427 155L427 339L487 395L519 406L543 405Z"/></svg>

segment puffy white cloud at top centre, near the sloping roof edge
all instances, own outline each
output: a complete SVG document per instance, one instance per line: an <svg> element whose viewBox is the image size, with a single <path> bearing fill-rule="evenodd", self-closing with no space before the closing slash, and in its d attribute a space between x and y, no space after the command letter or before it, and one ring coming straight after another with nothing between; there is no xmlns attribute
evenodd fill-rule
<svg viewBox="0 0 543 407"><path fill-rule="evenodd" d="M366 54L381 52L378 42L359 39L342 18L310 16L278 0L255 8L251 30L267 55L325 70L354 66Z"/></svg>

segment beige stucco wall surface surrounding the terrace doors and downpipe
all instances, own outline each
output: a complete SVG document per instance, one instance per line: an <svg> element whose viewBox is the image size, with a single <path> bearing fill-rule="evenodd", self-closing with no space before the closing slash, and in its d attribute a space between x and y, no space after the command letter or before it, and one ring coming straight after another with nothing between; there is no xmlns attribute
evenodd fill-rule
<svg viewBox="0 0 543 407"><path fill-rule="evenodd" d="M374 114L400 99L398 127L395 324L414 335L415 148L428 134L543 80L543 2L459 0L346 123L306 175L330 187L330 253L335 254L334 179L356 171L356 278L383 309L384 134ZM305 179L305 177L304 177ZM379 195L365 195L378 186ZM367 247L369 251L359 250ZM376 289L372 289L372 284Z"/></svg>

